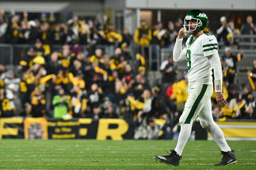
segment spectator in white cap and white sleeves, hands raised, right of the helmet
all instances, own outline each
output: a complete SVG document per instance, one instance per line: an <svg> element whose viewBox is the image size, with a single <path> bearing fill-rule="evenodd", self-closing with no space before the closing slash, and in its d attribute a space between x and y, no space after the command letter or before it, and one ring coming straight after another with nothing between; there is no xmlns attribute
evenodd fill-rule
<svg viewBox="0 0 256 170"><path fill-rule="evenodd" d="M221 25L216 30L216 33L218 34L218 41L225 42L227 40L227 34L232 33L231 28L228 26L227 19L225 16L222 16L220 18Z"/></svg>

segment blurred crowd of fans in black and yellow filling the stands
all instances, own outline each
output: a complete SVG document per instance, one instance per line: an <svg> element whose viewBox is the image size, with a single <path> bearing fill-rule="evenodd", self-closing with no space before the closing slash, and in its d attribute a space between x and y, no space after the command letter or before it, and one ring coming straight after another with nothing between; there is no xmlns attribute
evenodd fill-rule
<svg viewBox="0 0 256 170"><path fill-rule="evenodd" d="M124 118L136 121L135 139L159 138L159 130L165 131L164 138L172 138L188 96L187 71L179 70L170 55L161 64L161 82L150 87L144 54L133 59L128 47L132 39L140 46L170 47L182 27L180 21L168 22L167 29L158 22L151 29L142 19L132 38L127 29L117 33L106 16L103 23L78 17L65 23L52 20L29 21L26 12L5 15L0 11L1 43L34 44L26 49L17 67L0 64L0 117ZM226 17L220 22L216 33L218 40L225 42L225 54L220 57L228 104L219 108L213 92L212 114L216 120L256 119L251 87L238 91L234 84L236 63L243 51L232 53L240 48L233 35L255 33L256 27L251 16L240 30L232 21L227 23ZM205 32L211 33L208 28ZM52 51L52 44L62 48ZM97 44L115 45L114 55L96 48ZM85 53L82 45L89 52ZM252 81L256 79L256 60L253 64L249 73Z"/></svg>

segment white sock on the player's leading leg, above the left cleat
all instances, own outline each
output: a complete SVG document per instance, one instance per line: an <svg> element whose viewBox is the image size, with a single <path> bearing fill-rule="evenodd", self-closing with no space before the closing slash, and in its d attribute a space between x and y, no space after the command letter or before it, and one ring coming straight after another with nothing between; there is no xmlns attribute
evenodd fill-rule
<svg viewBox="0 0 256 170"><path fill-rule="evenodd" d="M188 138L191 133L192 124L180 124L180 132L179 132L179 138L176 148L174 149L179 156L181 155L185 144L188 141Z"/></svg>

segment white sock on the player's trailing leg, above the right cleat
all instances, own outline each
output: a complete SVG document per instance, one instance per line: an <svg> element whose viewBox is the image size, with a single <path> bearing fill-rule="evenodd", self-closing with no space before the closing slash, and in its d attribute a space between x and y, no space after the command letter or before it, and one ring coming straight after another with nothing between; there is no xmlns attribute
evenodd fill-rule
<svg viewBox="0 0 256 170"><path fill-rule="evenodd" d="M205 128L211 135L212 139L219 145L220 149L224 152L231 151L223 132L220 127L214 122Z"/></svg>

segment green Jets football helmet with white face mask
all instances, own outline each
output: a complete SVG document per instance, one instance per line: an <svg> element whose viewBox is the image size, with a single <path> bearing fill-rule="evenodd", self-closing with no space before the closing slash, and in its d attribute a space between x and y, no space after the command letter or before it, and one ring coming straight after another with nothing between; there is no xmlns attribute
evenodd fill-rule
<svg viewBox="0 0 256 170"><path fill-rule="evenodd" d="M196 24L191 24L189 25L189 21L190 20L197 20ZM198 9L194 9L191 10L187 13L185 19L184 19L184 31L187 33L189 31L194 31L194 30L198 30L198 31L202 31L206 28L208 23L208 18L206 16L206 14L204 14L201 10ZM196 28L194 30L190 30L190 26L192 25L196 25Z"/></svg>

